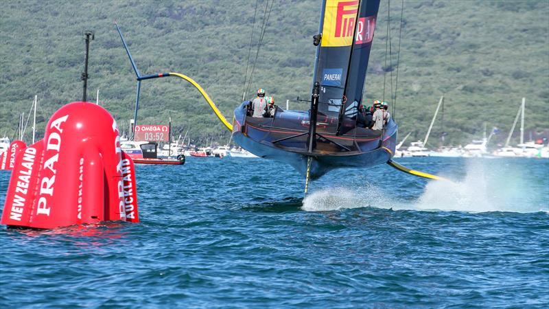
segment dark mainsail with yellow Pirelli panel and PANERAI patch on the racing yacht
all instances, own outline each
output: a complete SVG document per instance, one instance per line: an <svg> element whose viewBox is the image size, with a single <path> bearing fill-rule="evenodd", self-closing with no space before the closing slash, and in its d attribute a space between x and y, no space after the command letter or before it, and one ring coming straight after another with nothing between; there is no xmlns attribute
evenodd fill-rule
<svg viewBox="0 0 549 309"><path fill-rule="evenodd" d="M320 83L318 112L338 118L333 133L355 126L378 10L379 0L324 2L313 83Z"/></svg>

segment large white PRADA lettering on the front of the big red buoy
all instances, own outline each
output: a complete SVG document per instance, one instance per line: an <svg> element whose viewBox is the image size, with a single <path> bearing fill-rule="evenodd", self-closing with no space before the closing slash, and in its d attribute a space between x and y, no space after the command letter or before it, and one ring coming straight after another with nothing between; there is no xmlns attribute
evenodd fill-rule
<svg viewBox="0 0 549 309"><path fill-rule="evenodd" d="M54 183L56 182L56 163L59 161L59 150L61 148L61 133L63 129L61 128L69 115L59 117L51 122L49 128L49 136L47 137L46 151L43 163L43 172L44 176L40 179L39 185L39 195L38 206L36 207L36 215L46 215L49 216L49 211L51 208L47 205L47 196L51 197L54 195Z"/></svg>

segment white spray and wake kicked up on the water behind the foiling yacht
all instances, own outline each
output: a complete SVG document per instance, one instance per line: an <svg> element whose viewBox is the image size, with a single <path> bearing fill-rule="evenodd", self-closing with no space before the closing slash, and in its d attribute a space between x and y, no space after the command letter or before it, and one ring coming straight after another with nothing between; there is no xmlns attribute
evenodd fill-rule
<svg viewBox="0 0 549 309"><path fill-rule="evenodd" d="M455 175L446 175L452 179ZM330 211L356 207L415 209L430 211L549 211L543 192L533 190L519 170L509 165L487 164L472 160L466 163L461 181L430 181L415 201L397 201L390 192L375 185L349 190L344 187L314 192L303 200L305 211Z"/></svg>

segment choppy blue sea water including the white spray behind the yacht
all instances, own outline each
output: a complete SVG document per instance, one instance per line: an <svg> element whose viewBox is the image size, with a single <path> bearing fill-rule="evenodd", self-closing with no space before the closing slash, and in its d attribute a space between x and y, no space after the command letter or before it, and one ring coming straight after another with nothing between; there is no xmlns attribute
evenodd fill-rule
<svg viewBox="0 0 549 309"><path fill-rule="evenodd" d="M0 307L549 306L549 161L137 166L141 223L0 229ZM9 172L0 172L0 201Z"/></svg>

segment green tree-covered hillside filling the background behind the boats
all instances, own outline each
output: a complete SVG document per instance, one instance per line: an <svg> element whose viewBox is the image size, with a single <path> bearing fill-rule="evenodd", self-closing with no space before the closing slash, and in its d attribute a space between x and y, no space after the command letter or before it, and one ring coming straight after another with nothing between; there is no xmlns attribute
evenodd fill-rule
<svg viewBox="0 0 549 309"><path fill-rule="evenodd" d="M128 128L137 82L115 21L142 74L175 71L194 78L230 120L246 89L248 52L253 61L271 3L246 97L261 87L283 107L290 100L290 108L307 109L296 97L310 95L321 1L257 1L251 50L253 0L4 2L0 135L14 134L34 95L39 135L57 108L81 100L85 30L95 32L89 100L95 102L99 89L100 104ZM388 5L392 57L386 53ZM430 146L440 143L443 131L445 144L467 143L482 136L484 123L500 128L494 140L503 141L522 97L526 131L549 128L549 1L405 0L398 57L400 14L401 1L382 1L365 98L395 104L399 58L395 119L401 136L423 138L441 95L444 124L436 122ZM189 129L198 143L229 139L198 91L178 78L145 80L140 107L141 124L167 123L171 113L176 135Z"/></svg>

